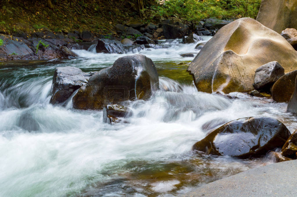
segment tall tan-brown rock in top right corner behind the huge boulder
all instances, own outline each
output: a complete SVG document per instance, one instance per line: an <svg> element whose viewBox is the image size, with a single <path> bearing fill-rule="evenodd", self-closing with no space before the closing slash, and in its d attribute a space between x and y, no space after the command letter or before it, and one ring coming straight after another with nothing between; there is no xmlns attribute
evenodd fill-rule
<svg viewBox="0 0 297 197"><path fill-rule="evenodd" d="M262 0L257 21L281 33L297 28L297 0Z"/></svg>

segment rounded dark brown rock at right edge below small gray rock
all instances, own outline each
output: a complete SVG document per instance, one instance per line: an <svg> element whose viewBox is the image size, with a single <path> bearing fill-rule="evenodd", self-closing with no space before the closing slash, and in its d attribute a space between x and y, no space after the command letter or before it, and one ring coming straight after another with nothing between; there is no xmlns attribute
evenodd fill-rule
<svg viewBox="0 0 297 197"><path fill-rule="evenodd" d="M279 78L271 89L272 99L276 102L288 102L295 89L297 70Z"/></svg>

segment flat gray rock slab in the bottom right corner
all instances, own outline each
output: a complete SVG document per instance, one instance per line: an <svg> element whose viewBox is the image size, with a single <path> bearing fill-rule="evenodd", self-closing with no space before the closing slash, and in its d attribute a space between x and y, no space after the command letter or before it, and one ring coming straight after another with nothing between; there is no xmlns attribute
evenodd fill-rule
<svg viewBox="0 0 297 197"><path fill-rule="evenodd" d="M295 197L297 160L285 161L203 185L180 197Z"/></svg>

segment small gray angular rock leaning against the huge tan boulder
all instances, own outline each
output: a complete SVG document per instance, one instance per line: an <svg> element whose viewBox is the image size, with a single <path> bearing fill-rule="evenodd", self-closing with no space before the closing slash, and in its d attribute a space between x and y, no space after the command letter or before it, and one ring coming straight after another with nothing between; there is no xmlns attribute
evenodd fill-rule
<svg viewBox="0 0 297 197"><path fill-rule="evenodd" d="M269 62L257 68L255 71L254 88L256 90L268 90L285 74L285 69L276 62Z"/></svg>

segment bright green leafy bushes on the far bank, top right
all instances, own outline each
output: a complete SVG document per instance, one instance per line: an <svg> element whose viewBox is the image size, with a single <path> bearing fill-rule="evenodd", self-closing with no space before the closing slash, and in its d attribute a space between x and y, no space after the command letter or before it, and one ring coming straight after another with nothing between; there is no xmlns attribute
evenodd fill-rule
<svg viewBox="0 0 297 197"><path fill-rule="evenodd" d="M256 18L261 0L170 0L154 6L155 16L178 17L190 23L217 17Z"/></svg>

